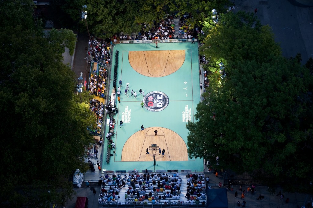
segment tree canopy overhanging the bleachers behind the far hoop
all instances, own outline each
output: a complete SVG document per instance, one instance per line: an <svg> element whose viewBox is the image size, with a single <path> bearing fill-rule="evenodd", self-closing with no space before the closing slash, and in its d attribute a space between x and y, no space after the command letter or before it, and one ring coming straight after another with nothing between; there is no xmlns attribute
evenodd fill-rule
<svg viewBox="0 0 313 208"><path fill-rule="evenodd" d="M90 33L97 37L109 38L121 32L137 33L142 29L142 24L151 28L167 14L182 16L190 13L193 18L188 20L188 24L193 27L199 20L207 17L213 8L224 11L224 5L228 2L228 0L65 0L56 3L55 7L61 8L67 14L63 19L70 17L74 22L78 22L82 5L86 5ZM82 26L85 27L83 23Z"/></svg>

